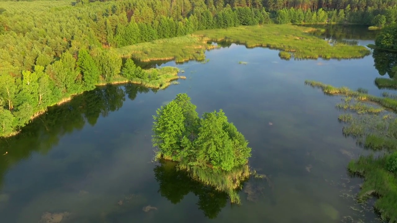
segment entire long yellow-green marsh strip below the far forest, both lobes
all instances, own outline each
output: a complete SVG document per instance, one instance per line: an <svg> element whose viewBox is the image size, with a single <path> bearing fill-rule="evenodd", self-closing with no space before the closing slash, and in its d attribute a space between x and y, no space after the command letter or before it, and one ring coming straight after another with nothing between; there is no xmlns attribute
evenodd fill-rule
<svg viewBox="0 0 397 223"><path fill-rule="evenodd" d="M264 24L197 31L193 35L154 40L117 48L119 56L134 57L143 62L155 60L204 60L205 51L217 48L209 41L227 41L247 47L268 47L282 50L281 58L289 60L317 58L362 58L370 54L364 46L338 43L333 46L311 34L318 29L295 25Z"/></svg>

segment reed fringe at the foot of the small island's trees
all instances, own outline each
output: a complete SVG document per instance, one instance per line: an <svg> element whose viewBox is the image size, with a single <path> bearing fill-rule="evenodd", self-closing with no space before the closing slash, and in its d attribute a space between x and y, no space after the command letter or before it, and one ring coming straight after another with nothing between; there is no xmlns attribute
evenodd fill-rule
<svg viewBox="0 0 397 223"><path fill-rule="evenodd" d="M216 190L226 192L231 203L240 204L240 196L237 193L249 177L254 174L248 165L236 167L231 171L213 171L210 168L185 165L179 163L177 168L188 171L192 177L201 183L213 186Z"/></svg>

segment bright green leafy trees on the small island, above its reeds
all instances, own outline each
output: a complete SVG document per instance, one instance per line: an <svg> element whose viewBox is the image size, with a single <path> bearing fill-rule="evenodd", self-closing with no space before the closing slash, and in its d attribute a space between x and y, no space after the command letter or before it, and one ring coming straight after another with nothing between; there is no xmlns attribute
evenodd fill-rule
<svg viewBox="0 0 397 223"><path fill-rule="evenodd" d="M251 157L247 140L222 110L204 113L200 119L187 94L177 94L157 110L154 120L156 158L219 172L246 165Z"/></svg>

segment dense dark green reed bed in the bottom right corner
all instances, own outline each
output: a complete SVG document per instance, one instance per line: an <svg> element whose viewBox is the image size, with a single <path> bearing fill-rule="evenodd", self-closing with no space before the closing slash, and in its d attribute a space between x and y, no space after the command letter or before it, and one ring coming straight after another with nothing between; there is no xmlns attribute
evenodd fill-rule
<svg viewBox="0 0 397 223"><path fill-rule="evenodd" d="M357 161L350 161L347 169L354 174L365 177L358 193L360 202L370 196L378 197L374 208L380 213L384 222L397 222L397 177L386 170L387 156L374 158L361 156Z"/></svg>

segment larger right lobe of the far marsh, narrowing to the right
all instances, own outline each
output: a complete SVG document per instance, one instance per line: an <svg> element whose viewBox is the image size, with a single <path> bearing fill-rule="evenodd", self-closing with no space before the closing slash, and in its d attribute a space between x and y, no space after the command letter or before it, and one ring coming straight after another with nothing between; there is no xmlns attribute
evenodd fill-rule
<svg viewBox="0 0 397 223"><path fill-rule="evenodd" d="M330 46L322 38L310 34L314 28L294 25L255 25L197 31L194 34L208 37L213 41L226 41L244 44L247 47L262 46L283 50L298 59L317 58L362 58L370 54L364 46L350 46L336 43Z"/></svg>

